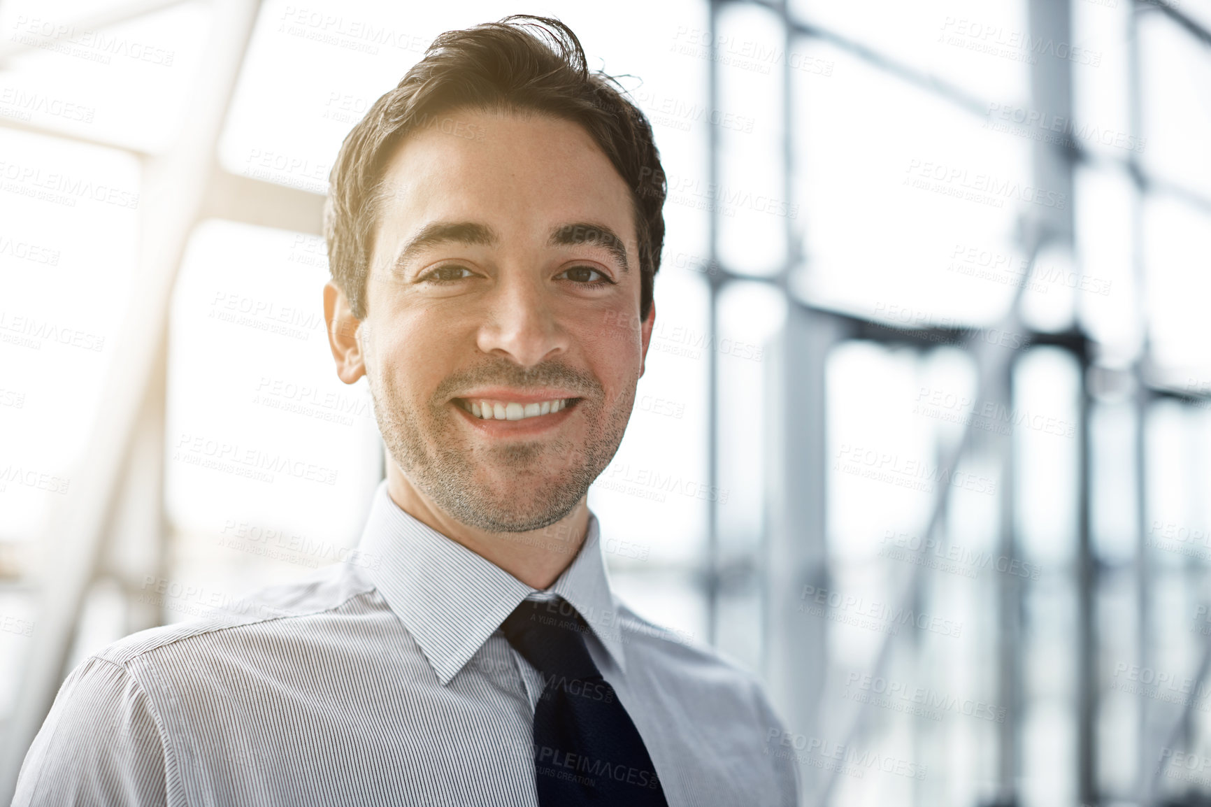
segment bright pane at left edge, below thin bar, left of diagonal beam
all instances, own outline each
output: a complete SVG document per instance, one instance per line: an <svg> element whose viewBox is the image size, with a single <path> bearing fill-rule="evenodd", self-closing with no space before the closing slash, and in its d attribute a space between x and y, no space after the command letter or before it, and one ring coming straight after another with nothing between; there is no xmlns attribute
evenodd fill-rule
<svg viewBox="0 0 1211 807"><path fill-rule="evenodd" d="M0 130L0 540L71 502L127 313L138 161ZM30 559L33 560L33 559Z"/></svg>

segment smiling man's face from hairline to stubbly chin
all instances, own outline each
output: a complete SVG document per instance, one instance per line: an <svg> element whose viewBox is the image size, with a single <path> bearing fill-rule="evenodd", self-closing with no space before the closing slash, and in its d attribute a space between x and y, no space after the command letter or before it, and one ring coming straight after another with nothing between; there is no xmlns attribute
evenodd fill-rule
<svg viewBox="0 0 1211 807"><path fill-rule="evenodd" d="M643 373L631 195L575 124L449 120L385 171L358 342L409 482L469 526L538 530L609 464Z"/></svg>

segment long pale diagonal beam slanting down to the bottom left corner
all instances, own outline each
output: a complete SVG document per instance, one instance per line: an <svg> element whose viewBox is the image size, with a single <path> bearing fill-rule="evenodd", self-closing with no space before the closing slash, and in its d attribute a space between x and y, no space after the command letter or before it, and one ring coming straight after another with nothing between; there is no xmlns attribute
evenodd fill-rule
<svg viewBox="0 0 1211 807"><path fill-rule="evenodd" d="M257 16L256 0L216 0L210 63L200 71L191 118L162 156L144 164L136 298L114 342L115 361L101 395L99 424L88 439L86 467L68 500L51 513L41 537L63 559L41 580L39 629L33 637L7 744L0 757L0 802L11 800L25 750L50 710L70 651L80 606L97 568L104 526L157 351L167 332L168 301L213 171L216 143Z"/></svg>

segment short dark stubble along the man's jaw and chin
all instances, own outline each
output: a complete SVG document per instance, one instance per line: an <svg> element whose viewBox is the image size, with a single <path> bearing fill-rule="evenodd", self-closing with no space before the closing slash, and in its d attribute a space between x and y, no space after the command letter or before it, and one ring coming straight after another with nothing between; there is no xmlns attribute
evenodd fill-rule
<svg viewBox="0 0 1211 807"><path fill-rule="evenodd" d="M547 372L545 379L550 377ZM516 374L510 373L509 380L516 382ZM369 389L383 442L415 488L461 523L516 533L564 517L614 458L631 417L635 388L608 406L601 384L592 379L591 385L593 394L586 393L573 413L587 424L584 445L510 440L487 450L460 436L463 430L452 418L461 416L449 411L441 388L420 407L408 404L390 374L377 383L371 379ZM562 470L552 470L556 465Z"/></svg>

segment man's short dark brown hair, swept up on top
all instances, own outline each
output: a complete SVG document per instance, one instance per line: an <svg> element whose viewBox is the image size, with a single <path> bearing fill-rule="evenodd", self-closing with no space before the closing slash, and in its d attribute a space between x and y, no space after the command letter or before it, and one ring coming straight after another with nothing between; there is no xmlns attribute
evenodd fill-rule
<svg viewBox="0 0 1211 807"><path fill-rule="evenodd" d="M582 126L631 188L639 253L639 316L665 240L667 193L652 125L618 82L591 73L580 40L558 19L513 15L446 32L395 90L379 98L340 147L329 177L323 233L332 277L366 319L366 277L383 170L394 148L457 108L526 110Z"/></svg>

